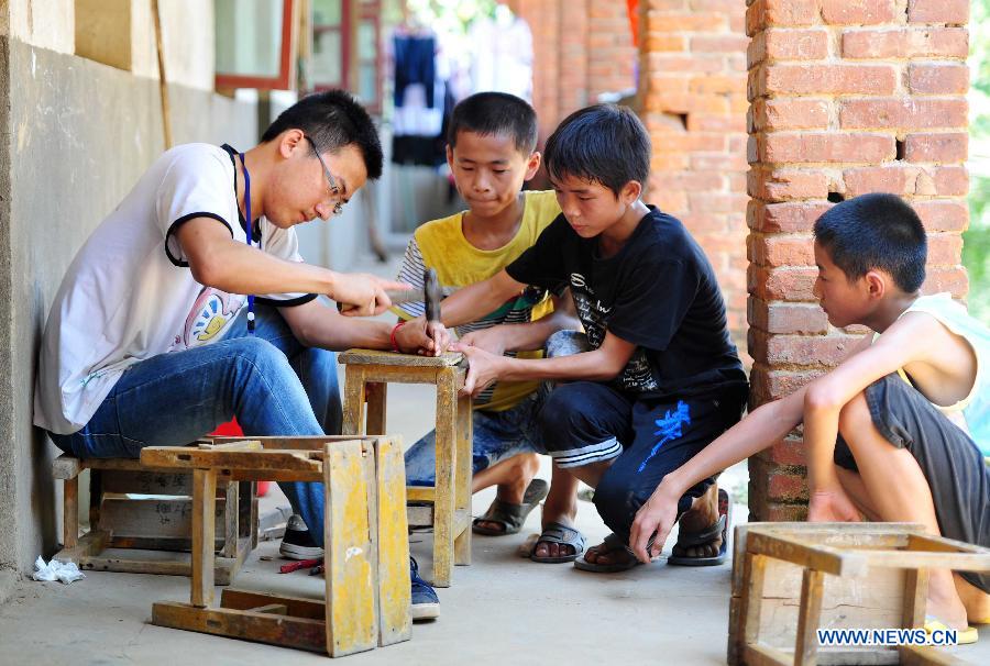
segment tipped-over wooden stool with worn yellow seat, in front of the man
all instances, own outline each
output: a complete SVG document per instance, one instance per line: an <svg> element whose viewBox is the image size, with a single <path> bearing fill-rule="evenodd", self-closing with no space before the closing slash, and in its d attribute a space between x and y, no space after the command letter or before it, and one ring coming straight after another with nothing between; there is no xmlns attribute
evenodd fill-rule
<svg viewBox="0 0 990 666"><path fill-rule="evenodd" d="M152 623L343 656L408 641L409 542L402 446L389 437L213 437L199 447L146 447L146 465L193 471L189 603L160 601ZM248 590L213 601L218 481L322 481L323 602Z"/></svg>

